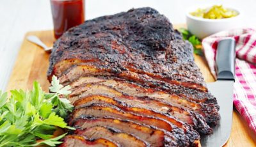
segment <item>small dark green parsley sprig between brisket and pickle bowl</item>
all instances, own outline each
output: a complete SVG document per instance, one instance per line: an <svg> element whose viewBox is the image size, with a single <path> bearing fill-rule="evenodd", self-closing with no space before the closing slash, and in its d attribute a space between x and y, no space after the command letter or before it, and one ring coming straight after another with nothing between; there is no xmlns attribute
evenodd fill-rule
<svg viewBox="0 0 256 147"><path fill-rule="evenodd" d="M188 29L180 28L179 32L182 34L183 40L188 40L194 47L194 53L203 56L202 52L202 43L201 41L195 36L192 35Z"/></svg>

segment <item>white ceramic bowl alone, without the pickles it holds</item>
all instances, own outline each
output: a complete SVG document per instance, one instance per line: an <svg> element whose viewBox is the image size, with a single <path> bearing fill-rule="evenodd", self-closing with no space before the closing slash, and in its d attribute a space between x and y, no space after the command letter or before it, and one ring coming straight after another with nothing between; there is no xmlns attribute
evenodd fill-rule
<svg viewBox="0 0 256 147"><path fill-rule="evenodd" d="M198 8L209 8L209 6L189 9L186 13L186 20L188 30L200 39L218 33L219 31L241 27L241 12L234 8L228 9L236 11L238 15L227 19L204 19L190 14L191 12L195 12Z"/></svg>

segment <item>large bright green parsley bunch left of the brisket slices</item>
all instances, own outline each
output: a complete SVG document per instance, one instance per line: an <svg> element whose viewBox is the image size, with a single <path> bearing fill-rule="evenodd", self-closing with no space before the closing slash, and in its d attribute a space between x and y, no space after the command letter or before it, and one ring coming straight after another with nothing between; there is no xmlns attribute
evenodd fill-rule
<svg viewBox="0 0 256 147"><path fill-rule="evenodd" d="M31 91L10 91L10 97L0 91L0 147L56 146L66 135L53 137L57 127L74 129L64 121L73 106L66 98L60 98L71 93L70 86L63 87L55 76L51 84L51 93L42 91L38 82L33 83ZM37 143L38 139L44 141Z"/></svg>

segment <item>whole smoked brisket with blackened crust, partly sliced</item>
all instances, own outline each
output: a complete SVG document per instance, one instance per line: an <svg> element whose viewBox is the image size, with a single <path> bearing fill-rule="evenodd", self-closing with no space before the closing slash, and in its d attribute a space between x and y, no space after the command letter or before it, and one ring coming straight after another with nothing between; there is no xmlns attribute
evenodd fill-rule
<svg viewBox="0 0 256 147"><path fill-rule="evenodd" d="M72 27L54 43L47 75L72 88L77 135L61 146L199 146L220 120L193 46L152 8Z"/></svg>

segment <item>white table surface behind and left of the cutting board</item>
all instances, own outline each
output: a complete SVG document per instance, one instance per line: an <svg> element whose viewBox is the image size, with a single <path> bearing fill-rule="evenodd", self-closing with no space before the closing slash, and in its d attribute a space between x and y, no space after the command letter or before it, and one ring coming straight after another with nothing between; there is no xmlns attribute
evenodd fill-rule
<svg viewBox="0 0 256 147"><path fill-rule="evenodd" d="M93 19L150 6L180 24L186 22L189 7L205 4L237 8L243 12L244 25L256 26L255 0L86 0L85 9L86 19ZM47 29L52 29L50 0L0 0L0 89L6 88L25 33Z"/></svg>

